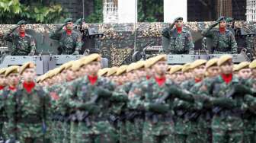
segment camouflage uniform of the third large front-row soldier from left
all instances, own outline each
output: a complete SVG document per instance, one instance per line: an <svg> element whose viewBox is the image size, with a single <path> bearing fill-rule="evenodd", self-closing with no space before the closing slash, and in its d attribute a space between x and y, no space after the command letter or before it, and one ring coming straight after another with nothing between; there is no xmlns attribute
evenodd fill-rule
<svg viewBox="0 0 256 143"><path fill-rule="evenodd" d="M173 120L173 100L164 103L155 103L155 100L168 94L168 87L172 86L171 81L165 81L161 87L155 79L143 81L138 86L134 85L129 93L129 98L133 99L133 106L136 110L146 110L146 119L143 125L142 142L174 142L174 120ZM144 99L144 100L142 100Z"/></svg>

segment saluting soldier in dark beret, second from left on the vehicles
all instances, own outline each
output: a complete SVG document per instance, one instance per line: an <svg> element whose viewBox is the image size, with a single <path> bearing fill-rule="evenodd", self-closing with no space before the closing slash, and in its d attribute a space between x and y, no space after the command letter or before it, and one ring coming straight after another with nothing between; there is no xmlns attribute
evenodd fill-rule
<svg viewBox="0 0 256 143"><path fill-rule="evenodd" d="M62 30L63 27L65 30ZM81 35L73 30L72 18L67 18L65 24L50 33L50 38L59 41L59 54L78 55L81 51Z"/></svg>

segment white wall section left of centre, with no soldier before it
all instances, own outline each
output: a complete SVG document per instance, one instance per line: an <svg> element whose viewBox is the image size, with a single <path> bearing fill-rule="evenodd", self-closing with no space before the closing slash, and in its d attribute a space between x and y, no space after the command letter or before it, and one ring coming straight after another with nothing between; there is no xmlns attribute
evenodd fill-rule
<svg viewBox="0 0 256 143"><path fill-rule="evenodd" d="M118 0L118 22L137 22L137 0Z"/></svg>

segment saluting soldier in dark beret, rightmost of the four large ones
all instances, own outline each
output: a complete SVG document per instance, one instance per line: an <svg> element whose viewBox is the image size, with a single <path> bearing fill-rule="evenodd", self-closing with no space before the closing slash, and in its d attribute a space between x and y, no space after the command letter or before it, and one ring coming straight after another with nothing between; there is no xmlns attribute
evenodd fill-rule
<svg viewBox="0 0 256 143"><path fill-rule="evenodd" d="M219 29L213 29L217 24L219 24ZM214 54L238 53L235 36L226 29L226 17L219 17L214 24L202 31L202 35L213 40L211 52Z"/></svg>

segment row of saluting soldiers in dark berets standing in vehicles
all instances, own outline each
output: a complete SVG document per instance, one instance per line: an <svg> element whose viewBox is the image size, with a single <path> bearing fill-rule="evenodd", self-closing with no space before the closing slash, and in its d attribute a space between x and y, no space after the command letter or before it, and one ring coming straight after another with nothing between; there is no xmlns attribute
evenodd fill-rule
<svg viewBox="0 0 256 143"><path fill-rule="evenodd" d="M213 53L237 53L237 43L235 41L235 33L232 32L229 22L232 18L219 17L206 30L202 31L203 37L213 40L211 51ZM0 37L12 43L11 55L27 56L34 55L36 52L36 44L34 38L26 33L26 21L19 21L17 26L11 29L5 35L0 33ZM219 25L219 28L215 28ZM85 21L78 19L75 27L80 30L85 29ZM59 54L78 55L82 53L82 35L78 29L73 26L72 18L67 18L61 27L50 33L50 38L59 41ZM18 33L14 31L18 29ZM162 31L162 46L165 54L194 54L194 42L190 30L184 28L182 17L178 17L170 25Z"/></svg>

